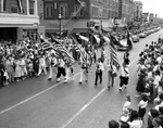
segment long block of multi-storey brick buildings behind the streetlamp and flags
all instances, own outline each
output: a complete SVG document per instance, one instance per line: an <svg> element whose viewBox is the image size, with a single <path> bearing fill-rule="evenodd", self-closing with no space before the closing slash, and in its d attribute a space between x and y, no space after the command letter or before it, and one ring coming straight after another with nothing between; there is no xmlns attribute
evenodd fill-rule
<svg viewBox="0 0 163 128"><path fill-rule="evenodd" d="M38 15L46 33L57 33L60 29L86 31L101 26L108 30L115 18L125 22L133 20L134 5L133 0L42 0L38 4Z"/></svg>

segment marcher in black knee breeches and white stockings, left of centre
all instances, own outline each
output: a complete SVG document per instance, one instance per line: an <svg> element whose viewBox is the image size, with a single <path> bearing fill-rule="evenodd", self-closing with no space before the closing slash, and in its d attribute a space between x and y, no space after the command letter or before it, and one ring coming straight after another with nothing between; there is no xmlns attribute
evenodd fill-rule
<svg viewBox="0 0 163 128"><path fill-rule="evenodd" d="M65 73L65 62L63 61L63 59L59 59L59 61L58 61L58 74L57 74L57 81L58 82L60 82L61 75L63 75L64 80L67 81L66 73Z"/></svg>

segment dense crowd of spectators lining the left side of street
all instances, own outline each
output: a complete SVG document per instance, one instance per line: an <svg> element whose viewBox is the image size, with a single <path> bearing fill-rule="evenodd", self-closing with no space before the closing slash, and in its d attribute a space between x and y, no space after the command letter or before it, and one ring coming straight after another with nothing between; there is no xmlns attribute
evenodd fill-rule
<svg viewBox="0 0 163 128"><path fill-rule="evenodd" d="M63 40L64 41L64 40ZM65 47L71 47L67 41ZM39 41L20 40L15 43L3 41L0 43L0 87L11 82L39 76L40 66L49 69L50 51L43 51Z"/></svg>

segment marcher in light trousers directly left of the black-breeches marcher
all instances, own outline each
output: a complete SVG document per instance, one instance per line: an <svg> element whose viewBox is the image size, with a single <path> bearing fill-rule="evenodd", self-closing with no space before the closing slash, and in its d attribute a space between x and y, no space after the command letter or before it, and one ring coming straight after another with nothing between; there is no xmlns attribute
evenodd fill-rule
<svg viewBox="0 0 163 128"><path fill-rule="evenodd" d="M49 62L50 62L50 74L48 80L51 80L53 72L57 74L57 64L58 64L57 57L54 56L53 53L50 54Z"/></svg>

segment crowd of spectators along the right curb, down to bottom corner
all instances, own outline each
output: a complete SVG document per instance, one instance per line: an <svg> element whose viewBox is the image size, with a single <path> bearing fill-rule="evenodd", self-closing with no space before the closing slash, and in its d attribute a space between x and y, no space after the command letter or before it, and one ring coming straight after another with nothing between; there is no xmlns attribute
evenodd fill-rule
<svg viewBox="0 0 163 128"><path fill-rule="evenodd" d="M163 39L146 44L139 54L136 90L141 98L137 110L130 108L130 97L122 108L120 120L110 120L109 128L162 128L163 127ZM153 107L147 111L148 103ZM147 114L147 118L145 115Z"/></svg>

